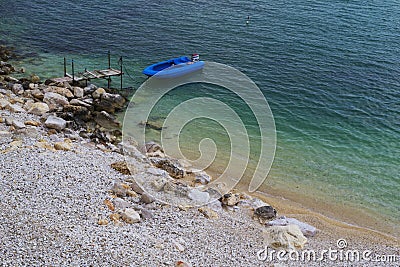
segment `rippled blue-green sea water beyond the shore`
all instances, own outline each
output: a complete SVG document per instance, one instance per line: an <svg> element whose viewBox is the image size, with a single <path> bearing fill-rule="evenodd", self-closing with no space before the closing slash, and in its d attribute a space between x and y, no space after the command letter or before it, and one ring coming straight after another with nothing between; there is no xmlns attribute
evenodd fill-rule
<svg viewBox="0 0 400 267"><path fill-rule="evenodd" d="M114 67L123 56L124 85L135 88L146 65L178 55L198 52L235 67L274 114L267 186L400 218L396 1L0 1L0 40L46 78L62 75L63 57L78 70L104 68L107 50ZM217 87L189 89L171 92L154 117L193 96L224 100L240 110L257 154L257 127L240 101ZM197 123L182 137L183 150L193 152L190 143L210 131L222 147L227 142L217 126Z"/></svg>

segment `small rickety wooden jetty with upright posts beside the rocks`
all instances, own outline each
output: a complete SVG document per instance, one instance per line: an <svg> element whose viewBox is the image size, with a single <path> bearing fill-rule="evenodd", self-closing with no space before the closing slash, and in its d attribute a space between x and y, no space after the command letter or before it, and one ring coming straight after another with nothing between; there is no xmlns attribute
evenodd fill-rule
<svg viewBox="0 0 400 267"><path fill-rule="evenodd" d="M124 72L122 71L122 57L120 57L120 59L119 59L119 65L120 65L119 70L111 68L110 51L108 51L108 68L107 69L90 70L89 71L85 68L84 72L75 73L74 60L72 60L71 61L72 73L69 74L69 73L67 73L67 60L66 60L66 58L64 58L64 77L53 78L53 79L51 79L51 81L57 82L57 83L68 82L68 83L72 83L72 84L81 82L81 81L85 81L86 85L87 85L87 82L92 79L107 79L108 88L110 88L111 77L120 76L121 77L121 89L122 89L122 76L124 74Z"/></svg>

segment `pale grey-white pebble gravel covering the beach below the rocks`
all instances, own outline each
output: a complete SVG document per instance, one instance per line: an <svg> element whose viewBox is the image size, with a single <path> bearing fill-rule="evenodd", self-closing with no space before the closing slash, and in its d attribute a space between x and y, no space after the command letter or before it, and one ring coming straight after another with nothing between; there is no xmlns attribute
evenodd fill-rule
<svg viewBox="0 0 400 267"><path fill-rule="evenodd" d="M0 111L0 117L10 115ZM40 120L32 114L12 116L22 122ZM263 228L244 207L220 210L219 219L211 220L197 209L140 203L137 205L149 210L152 218L134 224L99 225L100 219L111 214L103 204L110 198L110 189L116 181L129 178L110 167L124 157L102 152L86 140L73 142L71 151L38 148L34 144L39 139L53 142L62 140L63 135L49 137L43 127L34 128L33 135L0 136L2 266L175 266L178 260L193 266L352 265L343 261L276 265L276 259L260 261L257 252L265 246ZM8 129L0 123L0 131ZM22 142L10 149L16 140ZM335 248L338 237L357 236L347 234L321 230L309 239L306 249ZM350 248L398 255L398 247L382 245L375 237L364 239L366 235L351 240ZM397 258L397 265L399 261ZM396 265L361 261L354 266Z"/></svg>

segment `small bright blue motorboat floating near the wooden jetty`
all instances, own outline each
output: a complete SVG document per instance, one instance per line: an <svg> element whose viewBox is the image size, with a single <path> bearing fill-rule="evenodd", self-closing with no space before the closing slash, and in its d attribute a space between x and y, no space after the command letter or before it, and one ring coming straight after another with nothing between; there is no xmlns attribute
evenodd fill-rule
<svg viewBox="0 0 400 267"><path fill-rule="evenodd" d="M183 76L194 71L201 70L204 67L204 61L199 60L198 54L193 54L189 59L186 56L172 58L150 65L143 70L143 74L157 78L175 78Z"/></svg>

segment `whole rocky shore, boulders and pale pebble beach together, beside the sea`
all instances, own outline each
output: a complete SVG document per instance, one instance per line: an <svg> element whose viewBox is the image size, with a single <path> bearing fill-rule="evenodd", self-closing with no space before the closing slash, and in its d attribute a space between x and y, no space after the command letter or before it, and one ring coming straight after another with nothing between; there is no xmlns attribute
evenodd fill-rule
<svg viewBox="0 0 400 267"><path fill-rule="evenodd" d="M10 52L3 54L5 60ZM201 205L215 193L201 190L212 180L207 173L155 143L139 152L122 142L114 116L127 104L121 95L93 84L42 83L35 75L16 79L17 68L6 61L0 69L4 266L281 266L257 253L267 245L321 248L323 229L279 217L259 198L233 191ZM166 195L176 205L157 201ZM285 262L302 264L320 266Z"/></svg>

